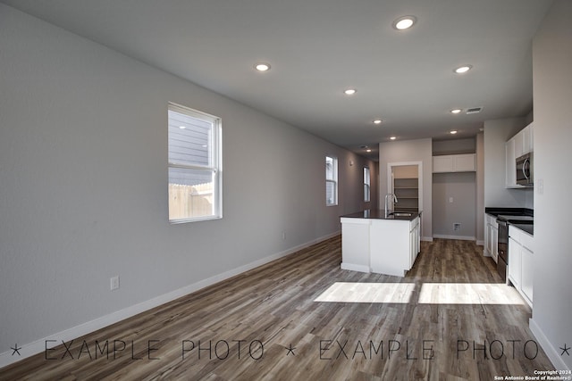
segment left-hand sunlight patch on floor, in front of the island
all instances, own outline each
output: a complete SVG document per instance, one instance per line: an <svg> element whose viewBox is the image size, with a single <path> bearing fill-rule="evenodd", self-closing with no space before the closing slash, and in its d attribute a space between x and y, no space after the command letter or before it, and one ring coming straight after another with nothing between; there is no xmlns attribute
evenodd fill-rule
<svg viewBox="0 0 572 381"><path fill-rule="evenodd" d="M408 303L414 283L336 282L314 302Z"/></svg>

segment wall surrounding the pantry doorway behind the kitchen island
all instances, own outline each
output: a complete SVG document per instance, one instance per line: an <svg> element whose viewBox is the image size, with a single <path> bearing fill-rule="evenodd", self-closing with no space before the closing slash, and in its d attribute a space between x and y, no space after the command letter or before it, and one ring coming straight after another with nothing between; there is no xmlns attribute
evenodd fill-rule
<svg viewBox="0 0 572 381"><path fill-rule="evenodd" d="M433 239L432 206L432 144L431 139L416 139L384 142L379 145L380 188L379 204L387 194L388 162L423 162L423 219L421 235L425 240ZM382 206L383 207L383 206Z"/></svg>

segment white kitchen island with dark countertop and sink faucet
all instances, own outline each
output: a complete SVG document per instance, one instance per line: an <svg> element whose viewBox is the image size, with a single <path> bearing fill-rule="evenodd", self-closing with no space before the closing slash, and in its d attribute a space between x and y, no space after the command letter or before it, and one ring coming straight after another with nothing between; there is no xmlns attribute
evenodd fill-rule
<svg viewBox="0 0 572 381"><path fill-rule="evenodd" d="M420 250L420 215L366 210L341 216L341 269L403 277Z"/></svg>

